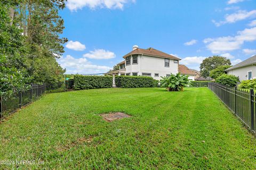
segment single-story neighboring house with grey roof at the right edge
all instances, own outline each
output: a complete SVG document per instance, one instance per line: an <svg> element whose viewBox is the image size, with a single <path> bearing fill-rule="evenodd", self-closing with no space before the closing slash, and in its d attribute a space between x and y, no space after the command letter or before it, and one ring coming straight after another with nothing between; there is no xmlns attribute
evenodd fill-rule
<svg viewBox="0 0 256 170"><path fill-rule="evenodd" d="M235 75L242 80L250 80L256 77L256 55L238 63L226 70L227 74Z"/></svg>

